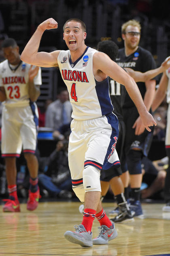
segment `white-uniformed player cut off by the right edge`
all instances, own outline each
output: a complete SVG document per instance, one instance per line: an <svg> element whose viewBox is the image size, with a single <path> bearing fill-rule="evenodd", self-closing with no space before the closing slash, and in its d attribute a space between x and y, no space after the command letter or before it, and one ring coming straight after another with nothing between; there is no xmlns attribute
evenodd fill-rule
<svg viewBox="0 0 170 256"><path fill-rule="evenodd" d="M155 111L155 109L161 104L165 96L166 96L166 102L168 103L165 148L166 148L166 154L169 158L169 166L167 169L167 174L165 178L165 187L164 187L164 198L165 198L166 205L162 208L162 210L170 212L170 68L168 68L166 72L164 72L159 82L159 87L156 90L155 98L153 99L153 103L152 103L153 111Z"/></svg>

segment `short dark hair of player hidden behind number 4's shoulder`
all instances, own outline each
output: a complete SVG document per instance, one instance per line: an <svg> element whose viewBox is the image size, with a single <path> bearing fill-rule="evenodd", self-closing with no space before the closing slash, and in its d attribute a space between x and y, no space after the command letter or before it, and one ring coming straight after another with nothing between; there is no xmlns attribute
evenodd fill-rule
<svg viewBox="0 0 170 256"><path fill-rule="evenodd" d="M119 47L111 40L104 40L98 43L97 50L106 53L111 60L115 61Z"/></svg>

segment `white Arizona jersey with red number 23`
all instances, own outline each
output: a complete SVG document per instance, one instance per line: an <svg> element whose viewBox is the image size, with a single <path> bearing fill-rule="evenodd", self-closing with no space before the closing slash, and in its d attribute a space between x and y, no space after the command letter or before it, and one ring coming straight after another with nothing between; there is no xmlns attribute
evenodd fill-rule
<svg viewBox="0 0 170 256"><path fill-rule="evenodd" d="M28 94L28 70L30 64L23 61L19 65L14 66L5 60L0 63L0 87L4 87L6 100L3 102L5 106L24 107L30 104ZM41 69L34 78L35 85L41 85Z"/></svg>

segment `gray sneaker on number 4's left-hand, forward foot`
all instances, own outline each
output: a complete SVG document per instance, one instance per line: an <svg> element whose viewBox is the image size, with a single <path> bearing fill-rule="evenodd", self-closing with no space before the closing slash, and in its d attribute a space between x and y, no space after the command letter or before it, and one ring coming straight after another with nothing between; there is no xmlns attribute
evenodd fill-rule
<svg viewBox="0 0 170 256"><path fill-rule="evenodd" d="M76 231L66 231L64 237L71 243L78 243L82 247L92 247L92 232L87 232L82 224L75 225L74 228Z"/></svg>

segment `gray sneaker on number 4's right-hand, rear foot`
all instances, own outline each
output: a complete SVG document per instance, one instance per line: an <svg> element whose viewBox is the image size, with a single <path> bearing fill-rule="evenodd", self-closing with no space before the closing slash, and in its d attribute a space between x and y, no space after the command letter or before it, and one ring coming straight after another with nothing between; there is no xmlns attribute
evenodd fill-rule
<svg viewBox="0 0 170 256"><path fill-rule="evenodd" d="M100 233L99 233L98 237L93 239L94 245L106 245L108 243L108 241L117 237L117 231L115 229L115 224L113 221L111 221L111 222L112 222L112 226L110 228L108 228L105 225L98 227L98 229L100 230Z"/></svg>

